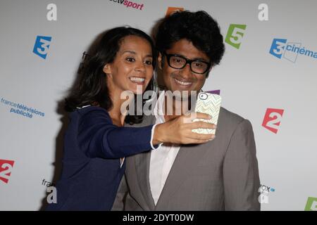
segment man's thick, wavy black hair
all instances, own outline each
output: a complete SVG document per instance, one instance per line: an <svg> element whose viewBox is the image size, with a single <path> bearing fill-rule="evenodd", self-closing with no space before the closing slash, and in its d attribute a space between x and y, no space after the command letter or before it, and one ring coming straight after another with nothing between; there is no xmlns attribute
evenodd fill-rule
<svg viewBox="0 0 317 225"><path fill-rule="evenodd" d="M205 11L177 11L161 20L155 36L156 49L161 53L180 39L187 39L206 53L211 65L220 63L225 46L216 20Z"/></svg>

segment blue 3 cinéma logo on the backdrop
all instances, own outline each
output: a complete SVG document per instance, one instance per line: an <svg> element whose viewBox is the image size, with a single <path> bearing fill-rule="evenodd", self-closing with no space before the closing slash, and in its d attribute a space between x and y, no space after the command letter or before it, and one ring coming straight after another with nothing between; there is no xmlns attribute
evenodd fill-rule
<svg viewBox="0 0 317 225"><path fill-rule="evenodd" d="M276 58L285 58L295 63L298 55L317 58L317 52L302 47L302 43L288 42L287 39L275 38L272 41L270 54Z"/></svg>

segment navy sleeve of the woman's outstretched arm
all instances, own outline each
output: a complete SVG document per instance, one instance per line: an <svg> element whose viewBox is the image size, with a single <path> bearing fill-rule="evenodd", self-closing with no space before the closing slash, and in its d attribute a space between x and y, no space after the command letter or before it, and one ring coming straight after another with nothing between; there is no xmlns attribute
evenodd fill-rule
<svg viewBox="0 0 317 225"><path fill-rule="evenodd" d="M82 116L77 140L89 158L123 158L151 150L152 127L117 127L105 110L92 110Z"/></svg>

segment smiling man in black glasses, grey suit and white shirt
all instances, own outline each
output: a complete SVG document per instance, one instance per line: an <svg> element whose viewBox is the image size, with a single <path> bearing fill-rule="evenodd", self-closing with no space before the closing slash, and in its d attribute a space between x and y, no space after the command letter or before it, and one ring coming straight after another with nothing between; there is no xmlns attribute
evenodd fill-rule
<svg viewBox="0 0 317 225"><path fill-rule="evenodd" d="M173 13L162 20L155 40L166 91L201 91L225 49L218 24L204 11ZM161 94L156 115L134 126L177 117L175 101L187 98L172 98L173 115L166 110L168 98ZM259 187L251 123L220 108L212 141L163 143L158 150L127 158L113 210L260 210Z"/></svg>

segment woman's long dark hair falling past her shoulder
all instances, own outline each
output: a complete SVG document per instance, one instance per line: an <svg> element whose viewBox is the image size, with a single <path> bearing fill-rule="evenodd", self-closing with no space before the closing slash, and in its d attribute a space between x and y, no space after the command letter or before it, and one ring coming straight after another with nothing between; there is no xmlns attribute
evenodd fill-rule
<svg viewBox="0 0 317 225"><path fill-rule="evenodd" d="M84 105L99 105L100 107L110 110L113 106L108 86L106 85L107 77L103 69L107 63L112 63L116 58L116 53L120 49L121 41L124 37L135 35L149 41L152 49L153 68L156 63L156 50L153 41L149 35L141 30L132 27L116 27L107 30L99 36L85 56L84 62L78 70L78 80L70 94L66 98L65 110L73 112L76 108ZM153 78L147 86L147 90L153 89ZM136 99L136 98L135 98ZM128 122L142 121L143 116L128 115Z"/></svg>

